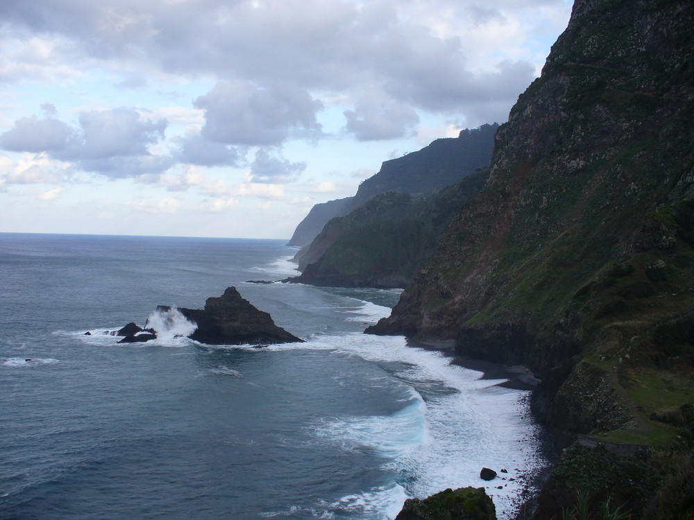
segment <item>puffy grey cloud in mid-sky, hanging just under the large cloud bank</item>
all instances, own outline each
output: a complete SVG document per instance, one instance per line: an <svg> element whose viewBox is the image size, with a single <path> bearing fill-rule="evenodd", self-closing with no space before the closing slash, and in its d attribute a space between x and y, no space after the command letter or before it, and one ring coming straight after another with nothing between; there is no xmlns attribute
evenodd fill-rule
<svg viewBox="0 0 694 520"><path fill-rule="evenodd" d="M202 135L210 141L237 145L273 145L290 130L320 130L322 103L293 85L260 88L248 81L227 81L193 102L205 110Z"/></svg>

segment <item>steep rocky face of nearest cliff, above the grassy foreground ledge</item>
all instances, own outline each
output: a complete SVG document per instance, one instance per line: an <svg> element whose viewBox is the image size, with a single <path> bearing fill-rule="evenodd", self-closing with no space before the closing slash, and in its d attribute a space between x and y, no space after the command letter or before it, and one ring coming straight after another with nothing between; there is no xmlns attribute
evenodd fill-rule
<svg viewBox="0 0 694 520"><path fill-rule="evenodd" d="M369 331L454 339L545 371L584 347L589 322L655 296L684 306L668 287L690 286L694 245L692 11L577 1L498 131L484 191Z"/></svg>

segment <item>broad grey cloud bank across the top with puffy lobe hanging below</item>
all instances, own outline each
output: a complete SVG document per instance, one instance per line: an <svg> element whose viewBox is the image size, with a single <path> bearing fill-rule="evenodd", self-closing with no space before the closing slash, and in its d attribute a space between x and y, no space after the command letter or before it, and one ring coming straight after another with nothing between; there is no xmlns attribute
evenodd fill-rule
<svg viewBox="0 0 694 520"><path fill-rule="evenodd" d="M510 107L532 73L475 76L462 43L437 35L416 14L440 10L455 13L461 24L465 17L479 24L499 19L501 10L522 13L561 3L489 0L481 8L471 0L262 0L255 6L242 0L4 0L0 17L14 26L81 42L92 57L139 63L142 71L157 67L226 80L196 100L209 110L205 136L225 144L267 145L284 139L292 125L312 127L313 119L303 119L316 112L307 91L353 94L371 89L413 108L446 113L474 110L490 92L502 91ZM408 16L407 10L415 15ZM278 82L284 86L252 86ZM226 101L216 96L221 91L230 96ZM257 106L244 107L247 101ZM265 119L278 113L277 123ZM500 118L493 114L487 119ZM264 130L267 122L271 127Z"/></svg>

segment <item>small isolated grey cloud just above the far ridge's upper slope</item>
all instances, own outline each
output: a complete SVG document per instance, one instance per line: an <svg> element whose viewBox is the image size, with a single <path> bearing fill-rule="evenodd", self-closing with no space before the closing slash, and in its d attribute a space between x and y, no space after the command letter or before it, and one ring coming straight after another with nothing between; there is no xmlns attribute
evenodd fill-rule
<svg viewBox="0 0 694 520"><path fill-rule="evenodd" d="M346 130L358 141L380 141L396 139L412 134L419 122L417 113L407 105L393 103L387 98L367 98L355 105L355 110L346 110Z"/></svg>

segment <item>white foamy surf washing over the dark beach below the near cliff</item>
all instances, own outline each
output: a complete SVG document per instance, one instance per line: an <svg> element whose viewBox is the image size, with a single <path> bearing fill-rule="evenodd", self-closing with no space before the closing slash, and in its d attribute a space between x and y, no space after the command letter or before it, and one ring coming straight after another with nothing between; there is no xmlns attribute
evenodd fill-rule
<svg viewBox="0 0 694 520"><path fill-rule="evenodd" d="M320 336L282 348L359 356L417 390L425 402L420 409L427 432L423 442L412 436L414 416L407 413L415 410L409 406L400 417L333 417L317 428L342 449L366 447L382 454L384 465L402 476L398 482L411 496L425 498L448 487L486 487L498 518L510 519L527 484L524 474L547 464L539 454L541 428L527 410L528 392L495 386L501 380L481 379L482 372L452 365L443 352L411 347L401 336L359 333ZM509 473L488 483L480 478L482 467Z"/></svg>

